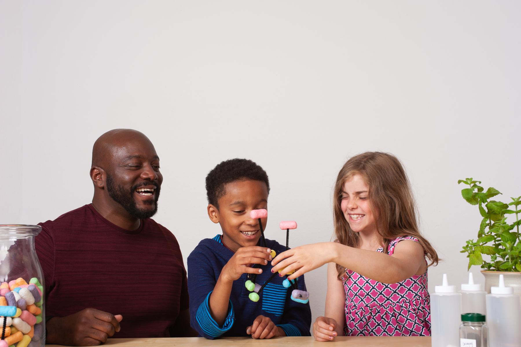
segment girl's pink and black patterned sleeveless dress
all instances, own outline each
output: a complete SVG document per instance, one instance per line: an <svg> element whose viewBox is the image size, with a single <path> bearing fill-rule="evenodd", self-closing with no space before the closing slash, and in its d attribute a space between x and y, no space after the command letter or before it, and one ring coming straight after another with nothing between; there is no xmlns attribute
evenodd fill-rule
<svg viewBox="0 0 521 347"><path fill-rule="evenodd" d="M389 254L401 240L389 243ZM383 252L380 247L377 252ZM345 289L345 336L430 336L427 271L392 285L365 278L348 269Z"/></svg>

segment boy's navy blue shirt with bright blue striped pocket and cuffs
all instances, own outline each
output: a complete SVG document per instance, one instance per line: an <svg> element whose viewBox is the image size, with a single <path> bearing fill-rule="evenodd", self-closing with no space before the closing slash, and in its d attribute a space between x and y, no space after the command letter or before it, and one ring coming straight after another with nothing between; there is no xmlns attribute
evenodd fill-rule
<svg viewBox="0 0 521 347"><path fill-rule="evenodd" d="M286 250L277 241L266 239L266 247L277 254ZM247 274L233 281L228 304L228 315L225 323L219 326L210 315L209 298L214 290L222 268L233 256L233 252L222 244L221 235L213 239L204 239L188 256L188 292L190 295L190 324L199 332L199 336L215 339L219 336L249 336L246 328L253 324L257 316L269 317L281 327L287 336L311 336L311 309L309 302L302 304L291 300L293 288L284 288L282 281L286 278L275 276L259 293L259 301L253 302L246 289ZM272 275L271 264L256 267L262 268L255 280L259 285ZM300 290L306 290L304 276L297 280Z"/></svg>

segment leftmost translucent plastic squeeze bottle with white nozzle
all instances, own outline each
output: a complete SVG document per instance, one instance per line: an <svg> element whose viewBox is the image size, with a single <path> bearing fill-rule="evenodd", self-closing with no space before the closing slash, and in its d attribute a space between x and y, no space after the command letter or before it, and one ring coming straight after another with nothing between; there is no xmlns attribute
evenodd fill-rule
<svg viewBox="0 0 521 347"><path fill-rule="evenodd" d="M432 347L460 345L461 294L456 286L449 286L447 275L443 284L430 294L430 324Z"/></svg>

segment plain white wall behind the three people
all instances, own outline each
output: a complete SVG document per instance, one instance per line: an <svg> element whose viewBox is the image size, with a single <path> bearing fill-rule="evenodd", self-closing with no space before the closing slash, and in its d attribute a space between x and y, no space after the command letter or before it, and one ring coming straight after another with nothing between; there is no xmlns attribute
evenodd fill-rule
<svg viewBox="0 0 521 347"><path fill-rule="evenodd" d="M394 153L421 229L466 276L480 216L457 179L521 195L521 3L516 1L0 1L0 223L35 224L89 203L105 131L145 133L161 158L156 221L186 259L220 232L204 178L250 158L267 171L267 235L328 241L342 164ZM479 280L479 269L473 268ZM326 269L306 275L314 318Z"/></svg>

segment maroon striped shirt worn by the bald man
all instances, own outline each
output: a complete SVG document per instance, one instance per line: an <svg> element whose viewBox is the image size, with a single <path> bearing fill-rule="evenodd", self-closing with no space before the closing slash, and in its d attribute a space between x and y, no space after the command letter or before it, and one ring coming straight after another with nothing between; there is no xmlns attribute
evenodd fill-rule
<svg viewBox="0 0 521 347"><path fill-rule="evenodd" d="M189 299L181 250L168 229L149 218L126 230L92 204L39 225L47 317L92 307L123 315L113 338L170 336Z"/></svg>

